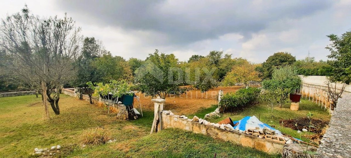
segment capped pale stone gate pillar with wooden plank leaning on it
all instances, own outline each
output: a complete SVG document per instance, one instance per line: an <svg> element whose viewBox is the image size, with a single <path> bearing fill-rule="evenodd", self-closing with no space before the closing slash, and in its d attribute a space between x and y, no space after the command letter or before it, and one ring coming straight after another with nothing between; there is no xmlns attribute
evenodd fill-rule
<svg viewBox="0 0 351 158"><path fill-rule="evenodd" d="M154 120L152 123L150 134L155 130L155 132L162 130L162 117L161 112L163 111L163 105L165 103L165 99L161 99L157 97L157 99L151 99L154 102Z"/></svg>

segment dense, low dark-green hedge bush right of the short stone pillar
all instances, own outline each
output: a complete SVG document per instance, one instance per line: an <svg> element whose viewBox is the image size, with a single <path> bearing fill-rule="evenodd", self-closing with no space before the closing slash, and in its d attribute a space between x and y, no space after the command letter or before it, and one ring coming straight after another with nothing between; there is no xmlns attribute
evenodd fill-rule
<svg viewBox="0 0 351 158"><path fill-rule="evenodd" d="M258 98L258 88L240 89L235 93L226 93L221 98L219 105L227 107L243 107Z"/></svg>

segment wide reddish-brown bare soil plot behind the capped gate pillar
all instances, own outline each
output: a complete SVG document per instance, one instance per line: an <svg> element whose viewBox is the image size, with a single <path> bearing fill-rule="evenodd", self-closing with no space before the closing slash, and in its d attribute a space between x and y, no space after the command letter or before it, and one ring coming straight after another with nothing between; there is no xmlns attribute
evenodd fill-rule
<svg viewBox="0 0 351 158"><path fill-rule="evenodd" d="M166 104L164 110L171 110L176 114L187 115L192 114L200 110L201 108L211 107L213 104L218 104L218 91L223 90L224 93L235 92L244 86L229 86L229 87L217 87L211 89L205 93L201 93L200 90L191 90L186 94L180 96L170 95L166 97ZM153 111L154 104L151 101L152 97L145 96L142 93L137 93L140 97L141 107L145 110ZM134 107L139 110L139 103L134 100Z"/></svg>

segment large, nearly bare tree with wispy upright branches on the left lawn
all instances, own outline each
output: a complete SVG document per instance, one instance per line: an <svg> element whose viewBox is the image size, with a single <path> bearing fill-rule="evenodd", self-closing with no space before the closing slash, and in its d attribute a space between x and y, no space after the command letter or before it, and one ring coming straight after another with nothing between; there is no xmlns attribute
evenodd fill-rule
<svg viewBox="0 0 351 158"><path fill-rule="evenodd" d="M71 63L79 56L81 40L80 28L67 15L39 18L25 6L2 19L0 50L9 57L5 73L19 85L40 90L44 119L50 118L47 102L60 114L60 91L72 79Z"/></svg>

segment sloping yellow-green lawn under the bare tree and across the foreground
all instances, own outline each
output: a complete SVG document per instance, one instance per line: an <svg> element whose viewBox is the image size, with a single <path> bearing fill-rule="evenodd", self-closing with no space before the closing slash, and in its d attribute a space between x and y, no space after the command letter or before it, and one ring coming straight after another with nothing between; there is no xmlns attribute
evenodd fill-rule
<svg viewBox="0 0 351 158"><path fill-rule="evenodd" d="M54 145L62 146L57 157L75 158L212 158L214 153L217 158L280 157L179 129L149 135L152 111L145 111L144 117L138 120L121 121L113 115L107 116L102 107L63 94L60 110L60 115L55 116L52 112L53 119L44 121L41 119L41 98L0 98L0 157L31 157L35 147ZM207 111L204 109L200 113ZM82 147L81 133L93 127L110 131L112 139L117 141Z"/></svg>

